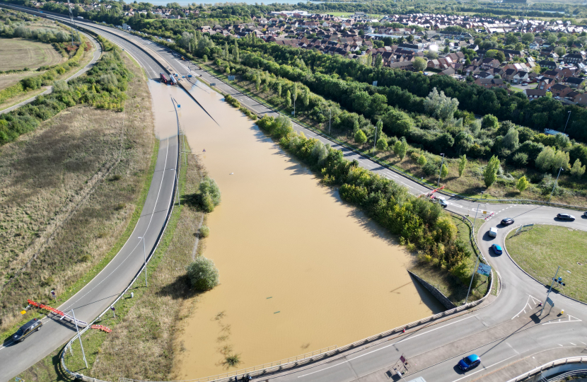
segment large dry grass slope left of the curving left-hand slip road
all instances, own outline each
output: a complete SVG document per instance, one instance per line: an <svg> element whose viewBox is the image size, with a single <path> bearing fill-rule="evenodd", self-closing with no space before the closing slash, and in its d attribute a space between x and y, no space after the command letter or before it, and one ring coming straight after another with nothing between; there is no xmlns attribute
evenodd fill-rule
<svg viewBox="0 0 587 382"><path fill-rule="evenodd" d="M135 74L124 112L77 105L0 147L1 340L42 316L21 316L26 299L54 305L52 289L65 301L86 285L139 219L158 142L146 79L122 59Z"/></svg>

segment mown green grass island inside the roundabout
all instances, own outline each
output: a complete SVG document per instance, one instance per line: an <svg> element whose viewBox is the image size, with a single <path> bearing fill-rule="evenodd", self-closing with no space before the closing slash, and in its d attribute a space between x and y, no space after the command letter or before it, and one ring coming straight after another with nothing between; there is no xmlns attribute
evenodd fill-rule
<svg viewBox="0 0 587 382"><path fill-rule="evenodd" d="M579 217L579 219L582 219ZM559 270L566 286L555 287L562 294L587 302L587 232L562 226L534 226L530 231L506 238L506 249L523 270L550 286ZM569 272L567 272L569 271ZM557 286L558 284L555 284Z"/></svg>

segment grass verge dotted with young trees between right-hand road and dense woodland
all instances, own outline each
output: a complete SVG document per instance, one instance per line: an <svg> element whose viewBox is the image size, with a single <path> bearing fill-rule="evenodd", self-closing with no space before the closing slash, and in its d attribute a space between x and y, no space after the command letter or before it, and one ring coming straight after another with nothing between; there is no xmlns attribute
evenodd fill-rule
<svg viewBox="0 0 587 382"><path fill-rule="evenodd" d="M260 103L270 105L272 108L279 110L279 112L283 113L284 115L291 115L292 108L289 108L286 105L286 101L284 98L282 98L284 96L283 94L281 97L279 97L272 88L267 88L267 91L263 91L263 86L261 86L257 91L255 82L247 81L243 78L243 76L237 75L235 81L228 81L226 74L223 73L223 69L212 63L202 64L202 66L204 66L205 69L211 71L211 73L213 73L219 79L222 79L226 83L231 83L231 86L234 86L239 91L242 91L245 95L258 100ZM303 110L301 105L298 105L296 118L294 118L294 120L296 120L296 122L298 122L300 125L303 125L304 127L317 130L321 134L329 136L328 120L326 119L325 122L318 123L308 117L306 111ZM342 144L349 146L356 151L361 152L362 154L376 158L378 161L384 163L390 168L396 168L397 170L409 173L410 175L414 176L414 178L421 179L422 182L426 183L426 185L429 187L435 188L437 185L438 173L426 175L426 173L424 173L422 170L422 166L420 166L416 160L410 157L409 154L412 151L419 152L419 149L413 149L412 146L408 145L407 155L405 158L400 159L393 153L393 145L390 145L390 148L386 151L374 151L372 143L357 144L354 141L354 137L352 137L351 132L343 131L342 129L337 129L335 127L330 129L330 137L340 141ZM440 165L441 156L436 156L430 153L427 154L427 156L429 156L429 161L437 161L438 166ZM530 187L528 187L528 189L524 190L523 192L518 192L516 189L516 180L521 178L522 175L525 175L529 180L533 181L535 179L541 178L543 174L537 170L534 170L533 168L514 168L513 166L504 165L504 173L509 173L511 175L511 179L498 178L496 183L494 183L494 185L490 187L489 190L487 190L487 188L484 186L483 180L483 170L484 167L487 166L487 161L480 159L469 159L463 176L458 176L458 158L446 158L444 159L444 163L448 168L448 175L441 179L441 185L446 185L447 192L463 196L480 197L481 192L483 191L484 196L489 197L490 199L547 199L544 190L542 190L540 185L535 183L531 184ZM574 180L571 180L570 176L565 175L565 177L562 177L559 183L564 184L565 187L569 188L569 190L572 189L572 192L564 192L562 195L554 195L552 202L579 206L584 205L585 192L579 187L574 187L573 182Z"/></svg>

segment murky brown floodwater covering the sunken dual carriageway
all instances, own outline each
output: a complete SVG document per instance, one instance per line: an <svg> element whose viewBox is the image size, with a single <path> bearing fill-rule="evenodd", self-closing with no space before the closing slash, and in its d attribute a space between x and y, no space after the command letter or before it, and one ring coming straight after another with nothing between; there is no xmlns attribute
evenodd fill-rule
<svg viewBox="0 0 587 382"><path fill-rule="evenodd" d="M211 117L180 88L151 83L156 120L165 120L157 134L175 131L173 96L192 151L220 186L204 255L221 284L197 297L174 378L221 374L223 353L240 354L243 369L443 311L414 285L406 272L412 255L389 233L221 95L202 84L191 92Z"/></svg>

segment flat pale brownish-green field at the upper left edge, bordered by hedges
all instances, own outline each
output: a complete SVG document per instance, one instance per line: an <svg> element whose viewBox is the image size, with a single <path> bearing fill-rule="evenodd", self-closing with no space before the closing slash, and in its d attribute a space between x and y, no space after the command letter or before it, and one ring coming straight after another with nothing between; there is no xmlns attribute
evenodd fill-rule
<svg viewBox="0 0 587 382"><path fill-rule="evenodd" d="M19 38L0 39L0 70L36 69L64 62L64 57L50 44Z"/></svg>

